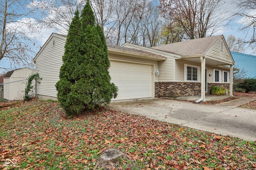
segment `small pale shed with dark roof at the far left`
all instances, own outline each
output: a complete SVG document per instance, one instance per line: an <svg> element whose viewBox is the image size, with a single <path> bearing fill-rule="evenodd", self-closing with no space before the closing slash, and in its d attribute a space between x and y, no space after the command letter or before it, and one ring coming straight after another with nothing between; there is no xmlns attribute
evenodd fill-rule
<svg viewBox="0 0 256 170"><path fill-rule="evenodd" d="M8 71L4 76L4 99L9 101L24 99L27 79L34 72L28 67Z"/></svg>

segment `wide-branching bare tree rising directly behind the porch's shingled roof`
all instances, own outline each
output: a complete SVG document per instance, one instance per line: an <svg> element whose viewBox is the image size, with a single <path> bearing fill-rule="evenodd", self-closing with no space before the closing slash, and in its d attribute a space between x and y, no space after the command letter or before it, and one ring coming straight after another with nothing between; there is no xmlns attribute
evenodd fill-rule
<svg viewBox="0 0 256 170"><path fill-rule="evenodd" d="M217 20L216 10L221 0L160 0L162 16L178 22L188 39L206 37L206 33L213 32L221 22ZM220 17L220 16L218 16ZM211 34L211 33L210 33Z"/></svg>

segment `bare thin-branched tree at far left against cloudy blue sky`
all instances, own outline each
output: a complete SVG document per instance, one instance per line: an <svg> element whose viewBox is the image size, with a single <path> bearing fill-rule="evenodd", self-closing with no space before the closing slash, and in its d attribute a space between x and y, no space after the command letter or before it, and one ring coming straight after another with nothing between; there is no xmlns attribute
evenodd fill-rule
<svg viewBox="0 0 256 170"><path fill-rule="evenodd" d="M28 8L29 1L4 0L0 4L0 61L9 59L11 67L32 68L34 57L34 28L32 17L36 8Z"/></svg>

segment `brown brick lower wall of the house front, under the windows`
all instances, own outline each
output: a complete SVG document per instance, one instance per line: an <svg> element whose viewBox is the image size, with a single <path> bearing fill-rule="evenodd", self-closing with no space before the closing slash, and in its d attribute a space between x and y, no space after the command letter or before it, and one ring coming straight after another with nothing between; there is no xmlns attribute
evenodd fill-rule
<svg viewBox="0 0 256 170"><path fill-rule="evenodd" d="M229 84L208 83L208 94L214 86L229 88ZM155 82L155 97L179 97L201 95L200 82Z"/></svg>

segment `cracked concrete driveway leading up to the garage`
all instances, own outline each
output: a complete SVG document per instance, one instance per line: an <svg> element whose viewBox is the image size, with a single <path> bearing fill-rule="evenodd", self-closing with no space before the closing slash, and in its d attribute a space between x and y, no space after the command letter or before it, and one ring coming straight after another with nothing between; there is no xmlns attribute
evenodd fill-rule
<svg viewBox="0 0 256 170"><path fill-rule="evenodd" d="M113 101L107 107L194 129L256 141L256 110L159 98Z"/></svg>

